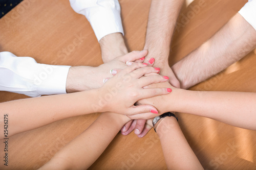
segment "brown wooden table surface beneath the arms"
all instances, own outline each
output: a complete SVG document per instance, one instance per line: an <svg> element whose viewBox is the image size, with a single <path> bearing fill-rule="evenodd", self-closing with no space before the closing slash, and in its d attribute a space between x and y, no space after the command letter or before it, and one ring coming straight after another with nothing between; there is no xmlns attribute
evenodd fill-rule
<svg viewBox="0 0 256 170"><path fill-rule="evenodd" d="M193 12L191 7L200 2L204 2L205 7ZM184 4L178 19L180 27L177 27L173 37L169 63L174 64L195 50L246 2L195 0L188 7ZM142 50L151 1L120 0L120 4L129 50ZM184 22L184 16L187 16L187 22ZM78 37L81 44L75 46L73 40ZM72 10L69 1L63 0L24 0L16 6L0 19L0 51L33 57L44 64L102 64L100 47L90 23ZM256 51L191 90L256 92L255 63ZM23 98L27 96L0 92L0 102ZM4 144L1 142L0 169L40 167L84 131L98 115L94 113L63 119L10 137L9 166L3 165ZM205 169L256 169L255 131L185 113L177 115L188 143ZM0 127L3 128L3 125ZM151 130L144 138L138 138L134 133L128 136L119 133L90 169L166 169L166 165L160 141Z"/></svg>

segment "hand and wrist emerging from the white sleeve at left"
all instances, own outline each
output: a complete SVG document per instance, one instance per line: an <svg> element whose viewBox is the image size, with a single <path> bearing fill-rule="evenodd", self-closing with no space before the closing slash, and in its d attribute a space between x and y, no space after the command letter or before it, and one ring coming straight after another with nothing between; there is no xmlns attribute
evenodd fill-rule
<svg viewBox="0 0 256 170"><path fill-rule="evenodd" d="M123 69L127 67L127 61L143 62L147 51L133 51L117 57L108 63L98 67L74 66L71 67L67 77L66 90L68 93L99 88L103 85L103 79L112 77L111 69ZM142 58L142 59L141 59ZM141 59L141 60L140 60Z"/></svg>

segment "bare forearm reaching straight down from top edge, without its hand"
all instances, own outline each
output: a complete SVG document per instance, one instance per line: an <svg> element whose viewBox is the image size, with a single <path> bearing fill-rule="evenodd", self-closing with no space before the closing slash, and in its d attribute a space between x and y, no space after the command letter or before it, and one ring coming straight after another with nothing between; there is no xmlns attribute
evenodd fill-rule
<svg viewBox="0 0 256 170"><path fill-rule="evenodd" d="M157 58L159 62L168 63L170 41L183 2L182 0L153 0L151 2L144 50L148 50L148 56L151 53L160 55L161 57L151 56Z"/></svg>

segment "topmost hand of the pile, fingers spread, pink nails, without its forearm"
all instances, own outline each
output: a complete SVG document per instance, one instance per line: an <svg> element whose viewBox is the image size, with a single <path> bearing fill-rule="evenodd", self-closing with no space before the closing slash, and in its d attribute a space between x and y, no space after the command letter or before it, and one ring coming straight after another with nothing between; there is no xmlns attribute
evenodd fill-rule
<svg viewBox="0 0 256 170"><path fill-rule="evenodd" d="M146 67L142 63L135 63L121 70L99 89L99 103L95 107L100 107L99 110L102 112L111 111L126 115L158 113L157 109L151 105L134 106L139 100L168 94L172 91L170 88L144 89L143 87L153 83L167 81L166 77L158 74L143 77L143 75L153 72L157 73L159 70L154 67Z"/></svg>

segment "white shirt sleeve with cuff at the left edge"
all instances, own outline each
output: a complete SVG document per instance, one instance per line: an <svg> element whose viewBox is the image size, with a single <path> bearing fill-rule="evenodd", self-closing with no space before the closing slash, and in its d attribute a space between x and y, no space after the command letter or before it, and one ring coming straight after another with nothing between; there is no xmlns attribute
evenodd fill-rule
<svg viewBox="0 0 256 170"><path fill-rule="evenodd" d="M71 66L39 64L31 57L0 53L0 90L31 97L66 93Z"/></svg>

